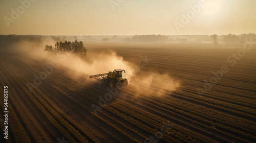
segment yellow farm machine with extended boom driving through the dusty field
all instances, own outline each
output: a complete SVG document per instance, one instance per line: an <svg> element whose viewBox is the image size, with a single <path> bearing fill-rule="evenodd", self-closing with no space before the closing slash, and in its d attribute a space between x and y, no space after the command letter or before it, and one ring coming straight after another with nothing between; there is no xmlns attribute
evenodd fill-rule
<svg viewBox="0 0 256 143"><path fill-rule="evenodd" d="M125 70L124 69L115 69L114 71L109 71L106 74L98 74L92 75L89 78L97 79L105 84L109 85L110 88L115 87L117 82L122 83L124 86L128 85L127 79L125 77Z"/></svg>

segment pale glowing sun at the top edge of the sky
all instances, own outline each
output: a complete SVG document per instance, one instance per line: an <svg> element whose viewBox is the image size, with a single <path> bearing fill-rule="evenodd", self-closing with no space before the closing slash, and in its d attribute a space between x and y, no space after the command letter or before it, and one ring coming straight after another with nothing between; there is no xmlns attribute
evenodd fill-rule
<svg viewBox="0 0 256 143"><path fill-rule="evenodd" d="M203 9L206 15L215 14L220 10L221 0L208 0L205 3L206 6Z"/></svg>

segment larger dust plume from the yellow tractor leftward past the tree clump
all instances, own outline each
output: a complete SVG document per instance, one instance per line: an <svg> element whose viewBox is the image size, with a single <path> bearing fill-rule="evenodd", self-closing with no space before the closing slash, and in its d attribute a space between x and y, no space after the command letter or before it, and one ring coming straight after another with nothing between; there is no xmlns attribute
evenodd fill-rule
<svg viewBox="0 0 256 143"><path fill-rule="evenodd" d="M134 65L128 61L123 60L122 56L118 56L115 51L104 51L100 53L87 52L86 58L81 58L80 53L72 52L57 52L52 49L52 52L45 52L44 47L46 44L54 45L54 41L48 41L43 43L26 42L22 41L16 44L16 49L20 55L30 58L34 61L39 61L44 66L51 65L51 62L56 62L66 73L70 73L69 76L81 76L81 75L96 75L109 73L114 69L125 69L125 78L129 79L134 76ZM69 71L71 70L71 71ZM92 80L94 81L94 80Z"/></svg>

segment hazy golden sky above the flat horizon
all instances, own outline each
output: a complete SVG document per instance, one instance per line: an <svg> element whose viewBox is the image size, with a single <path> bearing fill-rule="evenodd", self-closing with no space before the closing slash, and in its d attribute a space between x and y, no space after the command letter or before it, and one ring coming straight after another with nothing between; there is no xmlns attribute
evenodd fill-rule
<svg viewBox="0 0 256 143"><path fill-rule="evenodd" d="M255 0L205 0L204 7L196 6L200 0L30 1L21 0L30 3L25 3L27 6L24 8L20 1L0 0L0 34L256 33ZM196 13L190 6L195 7ZM200 10L196 9L198 7ZM182 14L188 14L189 21L183 18L182 22ZM177 23L181 26L179 30Z"/></svg>

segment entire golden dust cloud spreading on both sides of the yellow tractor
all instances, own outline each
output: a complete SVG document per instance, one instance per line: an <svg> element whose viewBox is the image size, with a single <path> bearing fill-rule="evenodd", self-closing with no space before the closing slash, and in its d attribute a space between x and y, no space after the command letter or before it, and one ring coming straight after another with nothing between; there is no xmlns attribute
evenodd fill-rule
<svg viewBox="0 0 256 143"><path fill-rule="evenodd" d="M149 96L163 96L176 90L180 84L165 74L150 73L141 75L138 73L137 65L125 61L115 51L104 51L100 53L87 53L86 58L81 59L80 53L56 52L54 47L52 52L44 52L44 47L48 43L21 42L18 44L18 51L26 58L39 61L42 65L51 65L56 62L61 70L65 71L67 76L72 78L82 78L84 75L104 74L114 69L120 68L126 70L126 78L135 95L147 94ZM50 43L54 45L54 41ZM58 68L59 68L58 67ZM54 71L53 71L54 72ZM85 80L96 82L97 80Z"/></svg>

